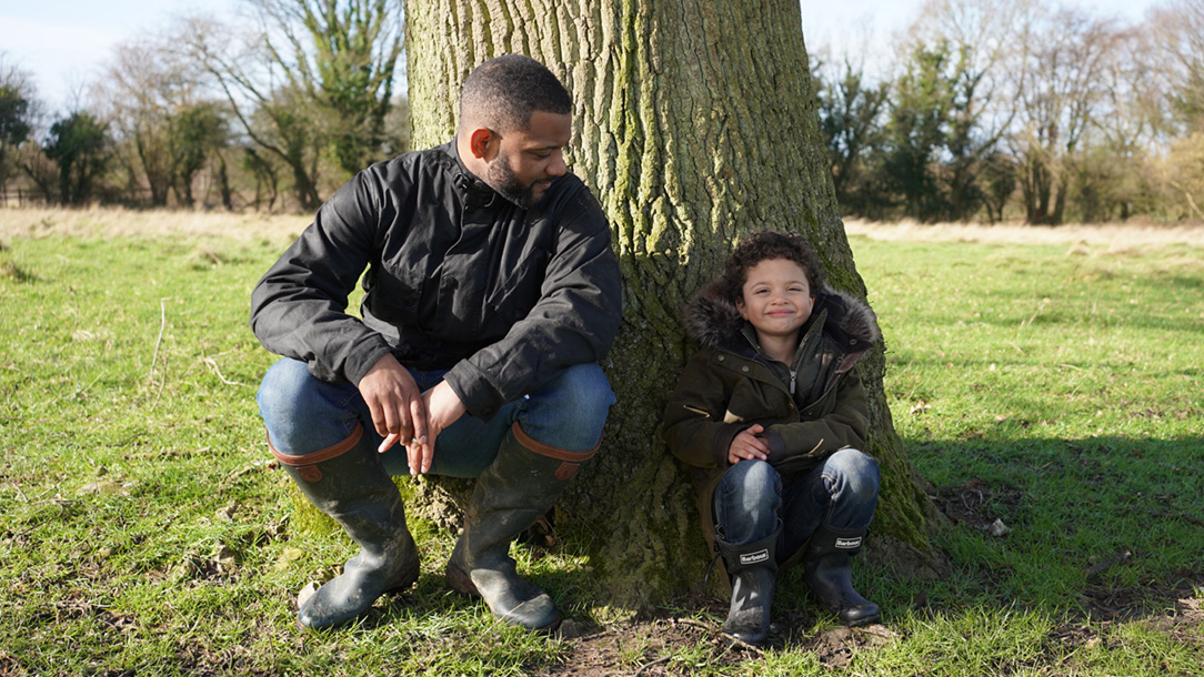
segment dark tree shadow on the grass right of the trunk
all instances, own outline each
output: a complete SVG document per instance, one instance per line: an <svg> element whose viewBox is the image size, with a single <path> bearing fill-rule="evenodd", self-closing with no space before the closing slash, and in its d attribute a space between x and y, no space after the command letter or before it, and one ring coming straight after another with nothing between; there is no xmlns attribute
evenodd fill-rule
<svg viewBox="0 0 1204 677"><path fill-rule="evenodd" d="M992 600L1055 617L1132 620L1204 586L1204 439L904 443L952 522L948 581L893 604ZM881 575L875 578L884 580Z"/></svg>

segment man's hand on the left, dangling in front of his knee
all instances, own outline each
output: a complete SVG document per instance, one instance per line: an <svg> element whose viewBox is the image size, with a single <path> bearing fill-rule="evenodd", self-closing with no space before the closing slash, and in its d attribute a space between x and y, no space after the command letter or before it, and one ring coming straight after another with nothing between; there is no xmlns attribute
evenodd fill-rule
<svg viewBox="0 0 1204 677"><path fill-rule="evenodd" d="M360 394L372 412L372 424L384 437L379 451L384 453L402 441L417 446L426 440L426 403L418 392L418 384L391 354L377 360L360 379ZM411 465L411 474L414 467Z"/></svg>

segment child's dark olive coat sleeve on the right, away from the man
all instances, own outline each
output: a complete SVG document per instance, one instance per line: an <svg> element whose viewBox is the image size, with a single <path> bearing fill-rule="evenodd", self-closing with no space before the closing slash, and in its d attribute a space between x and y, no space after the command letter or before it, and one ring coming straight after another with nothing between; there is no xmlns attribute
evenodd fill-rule
<svg viewBox="0 0 1204 677"><path fill-rule="evenodd" d="M813 421L766 428L769 463L778 470L802 470L844 447L864 451L868 430L866 388L857 372L850 369L839 380L832 411Z"/></svg>

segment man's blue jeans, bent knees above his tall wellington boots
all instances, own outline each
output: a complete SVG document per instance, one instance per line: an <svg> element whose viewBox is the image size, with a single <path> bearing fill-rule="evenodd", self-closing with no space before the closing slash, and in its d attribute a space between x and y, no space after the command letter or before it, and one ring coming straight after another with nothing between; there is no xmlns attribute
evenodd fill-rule
<svg viewBox="0 0 1204 677"><path fill-rule="evenodd" d="M447 372L409 373L426 391ZM364 426L364 440L376 449L383 438L376 432L359 388L314 378L305 362L282 358L259 387L259 412L272 446L287 456L303 456L335 446ZM574 364L555 380L515 402L503 405L489 421L464 415L435 441L431 474L476 477L494 462L497 449L517 421L536 441L568 451L594 449L602 438L614 393L602 368ZM406 449L394 445L380 457L390 475L408 475Z"/></svg>

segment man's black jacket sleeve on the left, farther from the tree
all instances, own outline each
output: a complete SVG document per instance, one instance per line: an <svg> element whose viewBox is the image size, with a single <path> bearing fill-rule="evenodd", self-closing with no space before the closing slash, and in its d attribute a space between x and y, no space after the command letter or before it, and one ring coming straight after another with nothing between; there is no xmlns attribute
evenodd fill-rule
<svg viewBox="0 0 1204 677"><path fill-rule="evenodd" d="M347 297L374 250L380 209L373 186L360 172L341 188L250 297L250 327L264 348L306 362L325 381L358 384L390 350L347 314Z"/></svg>

